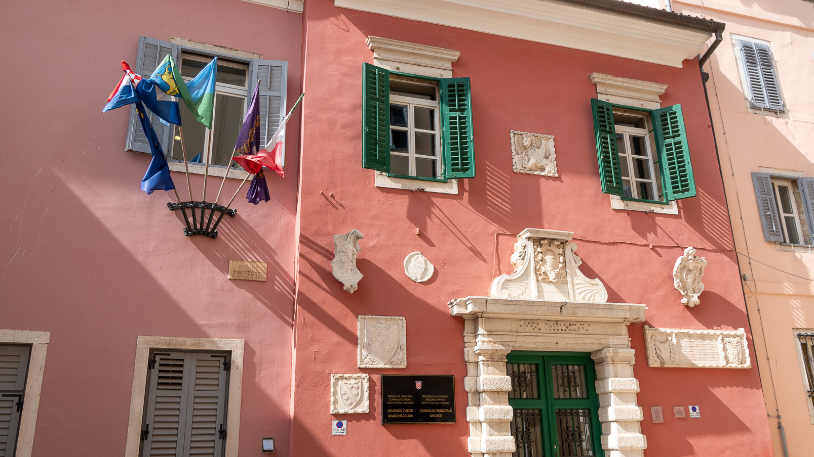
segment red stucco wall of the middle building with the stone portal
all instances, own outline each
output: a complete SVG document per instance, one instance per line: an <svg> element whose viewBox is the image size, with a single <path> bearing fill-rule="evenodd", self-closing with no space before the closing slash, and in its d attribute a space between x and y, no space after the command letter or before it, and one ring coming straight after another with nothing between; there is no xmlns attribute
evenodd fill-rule
<svg viewBox="0 0 814 457"><path fill-rule="evenodd" d="M467 455L463 325L447 302L487 295L510 271L514 239L526 227L575 232L582 270L612 302L642 303L651 326L746 328L732 235L698 63L681 69L458 28L336 8L311 0L304 11L304 122L295 317L294 455ZM461 51L454 76L469 76L475 179L457 195L375 188L361 168L361 64L368 36ZM681 103L698 196L677 216L610 209L597 171L590 98L594 72L667 84L663 106ZM512 172L510 129L554 135L558 177ZM322 193L321 193L322 192ZM361 231L352 295L331 275L333 235ZM416 235L416 229L420 235ZM689 309L672 286L672 266L694 246L709 262L702 304ZM402 262L421 251L435 264L428 282L406 278ZM404 316L406 369L357 369L357 316ZM770 455L756 369L650 369L641 325L631 326L646 455ZM751 338L751 337L750 337ZM751 341L751 340L750 340ZM750 347L751 348L751 347ZM370 413L328 432L330 373L370 373ZM380 425L379 375L454 374L457 423ZM701 419L674 419L673 406L698 404ZM651 423L662 406L665 423Z"/></svg>

